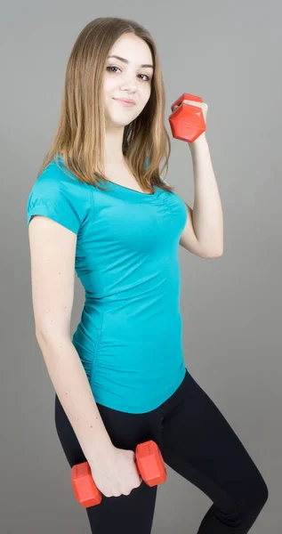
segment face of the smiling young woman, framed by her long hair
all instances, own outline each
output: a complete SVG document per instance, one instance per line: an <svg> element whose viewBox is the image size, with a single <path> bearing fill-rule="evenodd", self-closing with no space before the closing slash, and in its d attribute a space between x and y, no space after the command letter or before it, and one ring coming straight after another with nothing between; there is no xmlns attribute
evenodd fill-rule
<svg viewBox="0 0 282 534"><path fill-rule="evenodd" d="M151 93L153 58L149 46L140 37L125 34L109 51L104 73L104 105L106 125L125 126L140 115ZM125 106L116 99L133 99L133 106Z"/></svg>

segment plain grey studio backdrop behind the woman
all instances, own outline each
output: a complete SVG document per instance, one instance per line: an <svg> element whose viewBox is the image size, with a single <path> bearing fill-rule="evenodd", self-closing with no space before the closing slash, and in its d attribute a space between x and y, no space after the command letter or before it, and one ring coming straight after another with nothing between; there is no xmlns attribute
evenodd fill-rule
<svg viewBox="0 0 282 534"><path fill-rule="evenodd" d="M26 202L59 117L68 54L99 16L133 18L157 41L170 105L209 105L206 137L224 211L224 254L180 247L185 362L259 467L270 498L252 528L279 534L282 474L281 3L275 0L2 3L1 534L88 532L54 426L54 390L36 344ZM189 147L166 178L193 206ZM84 290L76 279L72 332ZM211 505L168 467L154 534L197 532Z"/></svg>

